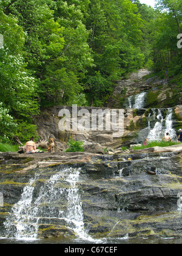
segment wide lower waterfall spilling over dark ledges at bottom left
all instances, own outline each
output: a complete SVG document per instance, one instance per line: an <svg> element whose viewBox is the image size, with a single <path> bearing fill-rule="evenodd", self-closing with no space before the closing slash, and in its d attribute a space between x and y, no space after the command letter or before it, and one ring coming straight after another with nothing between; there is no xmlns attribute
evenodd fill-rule
<svg viewBox="0 0 182 256"><path fill-rule="evenodd" d="M64 226L72 229L84 240L95 241L84 230L84 216L77 187L80 168L58 169L49 180L39 183L39 175L30 179L24 188L21 199L12 208L12 212L4 222L8 237L20 240L34 240L38 237L38 229L47 219L64 222ZM39 191L35 193L35 187ZM37 188L36 188L37 189ZM36 195L37 194L37 195Z"/></svg>

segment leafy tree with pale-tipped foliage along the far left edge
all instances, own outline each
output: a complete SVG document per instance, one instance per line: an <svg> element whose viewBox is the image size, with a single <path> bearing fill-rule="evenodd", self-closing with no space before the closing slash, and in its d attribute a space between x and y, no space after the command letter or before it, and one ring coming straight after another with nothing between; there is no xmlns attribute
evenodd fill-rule
<svg viewBox="0 0 182 256"><path fill-rule="evenodd" d="M25 119L32 122L32 115L38 113L38 102L35 79L24 62L24 31L18 20L5 15L0 7L0 33L4 37L4 48L0 49L0 137L12 138L18 123Z"/></svg>

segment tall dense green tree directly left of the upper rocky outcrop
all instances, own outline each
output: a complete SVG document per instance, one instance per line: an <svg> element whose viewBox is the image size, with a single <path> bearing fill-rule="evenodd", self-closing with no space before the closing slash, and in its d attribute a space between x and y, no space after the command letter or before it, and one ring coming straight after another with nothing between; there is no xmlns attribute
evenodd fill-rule
<svg viewBox="0 0 182 256"><path fill-rule="evenodd" d="M143 21L129 0L91 0L88 14L86 27L95 66L89 69L85 84L89 102L101 106L112 94L116 79L143 66Z"/></svg>

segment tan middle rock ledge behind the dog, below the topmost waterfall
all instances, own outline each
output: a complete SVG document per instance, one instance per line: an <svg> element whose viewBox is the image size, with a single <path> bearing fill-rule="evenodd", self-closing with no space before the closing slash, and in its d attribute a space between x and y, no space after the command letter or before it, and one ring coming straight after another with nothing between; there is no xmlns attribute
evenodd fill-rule
<svg viewBox="0 0 182 256"><path fill-rule="evenodd" d="M149 132L149 122L150 129L155 126L155 123L158 121L158 108L125 108L123 112L123 133L115 133L115 130L110 129L106 130L106 127L103 130L72 130L65 129L59 130L59 121L60 117L58 113L60 110L66 109L69 110L70 116L72 116L72 107L67 106L58 106L53 108L47 108L42 111L41 116L38 116L35 120L38 126L38 134L41 136L42 140L49 141L49 138L55 138L56 150L64 151L67 148L67 141L70 137L73 140L84 141L85 151L92 153L104 154L103 149L110 150L119 150L122 151L123 146L130 147L130 144L143 144L144 139L147 137ZM110 108L95 108L96 110L112 111ZM173 111L173 124L172 127L175 129L178 134L178 129L182 127L182 105L177 105L171 108ZM92 107L78 107L79 110L87 110L89 116L87 119L92 118ZM116 109L118 110L118 109ZM163 120L166 118L166 113L168 108L160 108ZM78 123L83 118L83 116L78 116ZM97 123L98 125L98 123ZM91 121L90 121L91 126ZM106 119L104 119L104 126L106 126ZM164 124L165 126L165 124Z"/></svg>

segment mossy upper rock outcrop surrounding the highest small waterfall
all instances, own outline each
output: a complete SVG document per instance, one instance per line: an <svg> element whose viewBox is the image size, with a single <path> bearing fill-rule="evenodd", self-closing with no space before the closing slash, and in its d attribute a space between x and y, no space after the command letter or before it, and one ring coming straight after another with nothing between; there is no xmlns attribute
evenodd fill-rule
<svg viewBox="0 0 182 256"><path fill-rule="evenodd" d="M181 105L182 93L172 79L159 79L157 76L147 78L150 72L140 69L129 76L129 79L118 80L108 107L125 108L127 99L132 95L146 92L145 108L167 108Z"/></svg>

